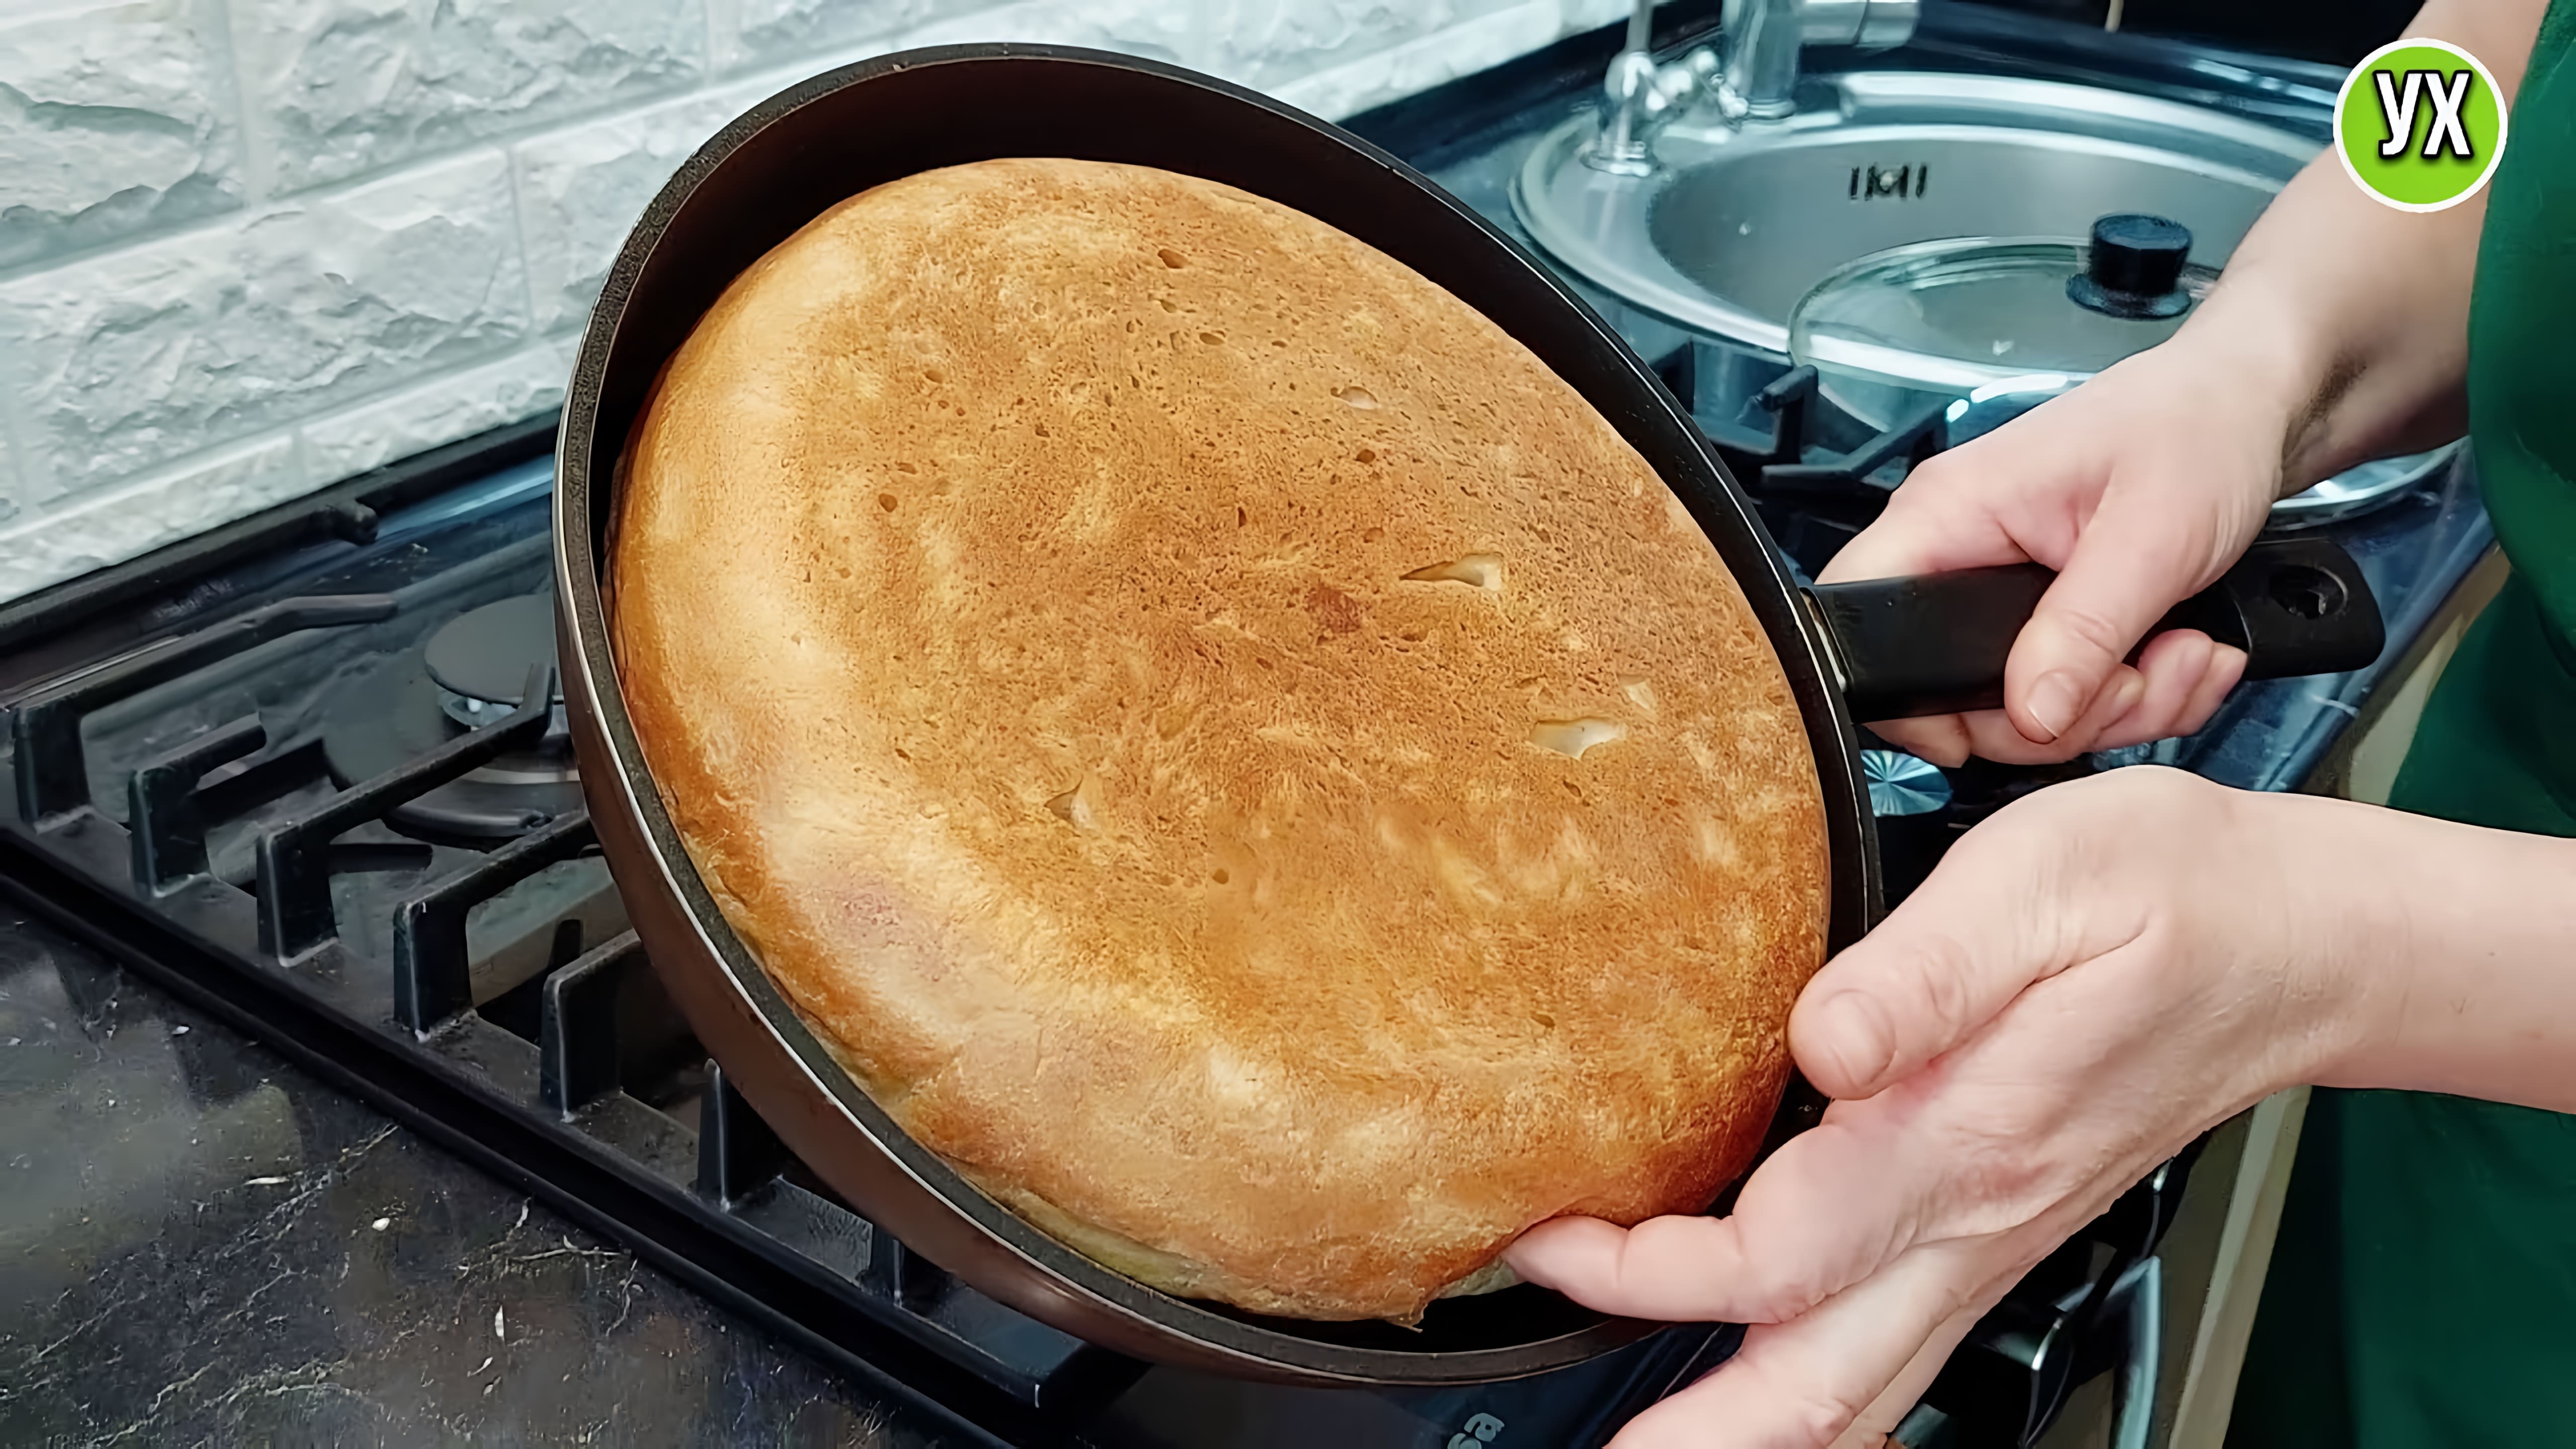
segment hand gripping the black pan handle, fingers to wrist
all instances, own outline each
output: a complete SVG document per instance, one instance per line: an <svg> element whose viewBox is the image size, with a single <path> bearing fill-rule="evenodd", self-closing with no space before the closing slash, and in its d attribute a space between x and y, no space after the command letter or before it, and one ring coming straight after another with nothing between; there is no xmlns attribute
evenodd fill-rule
<svg viewBox="0 0 2576 1449"><path fill-rule="evenodd" d="M2012 645L2004 709L1873 722L1940 766L2056 763L2200 730L2244 652L2159 634L2244 554L2282 485L2300 400L2239 330L2184 327L1914 469L1819 583L2040 562L2058 580Z"/></svg>

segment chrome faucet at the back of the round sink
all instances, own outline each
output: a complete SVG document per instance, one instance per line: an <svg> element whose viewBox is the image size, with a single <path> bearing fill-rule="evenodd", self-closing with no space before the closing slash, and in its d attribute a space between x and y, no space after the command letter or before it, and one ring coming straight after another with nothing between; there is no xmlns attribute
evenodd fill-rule
<svg viewBox="0 0 2576 1449"><path fill-rule="evenodd" d="M1695 46L1656 64L1656 0L1636 0L1628 44L1610 62L1600 134L1584 165L1620 175L1654 170L1654 134L1708 106L1728 126L1783 121L1798 111L1798 54L1806 46L1888 49L1914 36L1917 0L1726 0L1718 49Z"/></svg>

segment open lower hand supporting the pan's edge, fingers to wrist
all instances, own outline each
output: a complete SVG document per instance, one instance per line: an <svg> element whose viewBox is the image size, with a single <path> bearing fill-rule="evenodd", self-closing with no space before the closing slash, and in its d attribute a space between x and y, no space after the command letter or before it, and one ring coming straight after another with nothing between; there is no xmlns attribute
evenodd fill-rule
<svg viewBox="0 0 2576 1449"><path fill-rule="evenodd" d="M1790 1049L1837 1101L1734 1217L1569 1217L1510 1250L1602 1312L1752 1325L1613 1449L1880 1444L2120 1191L2331 1078L2403 933L2398 882L2339 848L2385 815L2123 768L1971 830L1801 995Z"/></svg>

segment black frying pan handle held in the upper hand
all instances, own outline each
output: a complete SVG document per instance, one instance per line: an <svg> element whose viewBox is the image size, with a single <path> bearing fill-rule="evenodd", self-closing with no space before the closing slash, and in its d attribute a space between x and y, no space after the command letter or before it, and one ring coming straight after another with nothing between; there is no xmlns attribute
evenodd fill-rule
<svg viewBox="0 0 2576 1449"><path fill-rule="evenodd" d="M1824 624L1852 717L1917 719L2004 704L2012 639L2058 575L2040 565L1821 583ZM2246 652L2246 678L2344 673L2388 645L2380 603L2334 539L2259 541L2148 629L2202 629ZM2136 657L2136 655L2130 655Z"/></svg>

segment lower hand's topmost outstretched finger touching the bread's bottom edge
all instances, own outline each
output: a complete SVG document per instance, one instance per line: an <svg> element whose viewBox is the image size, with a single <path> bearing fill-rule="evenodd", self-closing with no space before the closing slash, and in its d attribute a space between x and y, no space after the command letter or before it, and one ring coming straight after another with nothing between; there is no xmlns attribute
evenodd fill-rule
<svg viewBox="0 0 2576 1449"><path fill-rule="evenodd" d="M1826 1114L1744 1183L1731 1217L1618 1227L1558 1217L1504 1258L1574 1302L1654 1323L1780 1323L1883 1269L1911 1240L1940 1171L1904 1171L1901 1122Z"/></svg>

